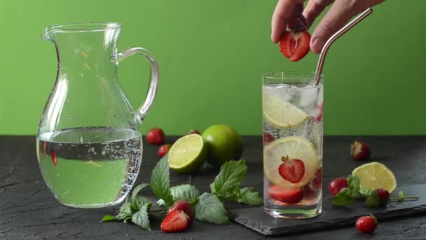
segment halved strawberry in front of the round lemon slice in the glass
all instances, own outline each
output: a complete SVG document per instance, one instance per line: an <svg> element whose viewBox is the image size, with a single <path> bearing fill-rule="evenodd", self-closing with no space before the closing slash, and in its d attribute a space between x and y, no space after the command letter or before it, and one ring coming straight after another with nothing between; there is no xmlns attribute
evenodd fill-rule
<svg viewBox="0 0 426 240"><path fill-rule="evenodd" d="M285 180L296 183L299 182L303 175L305 174L305 164L300 159L289 159L287 156L283 156L281 161L284 161L283 164L278 168L278 173Z"/></svg>

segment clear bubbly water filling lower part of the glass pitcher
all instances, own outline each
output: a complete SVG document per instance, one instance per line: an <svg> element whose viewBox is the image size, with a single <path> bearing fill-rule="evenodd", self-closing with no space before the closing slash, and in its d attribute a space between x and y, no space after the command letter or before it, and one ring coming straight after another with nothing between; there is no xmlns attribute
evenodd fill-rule
<svg viewBox="0 0 426 240"><path fill-rule="evenodd" d="M136 180L142 154L139 132L71 128L37 139L39 166L57 200L96 208L123 201Z"/></svg>

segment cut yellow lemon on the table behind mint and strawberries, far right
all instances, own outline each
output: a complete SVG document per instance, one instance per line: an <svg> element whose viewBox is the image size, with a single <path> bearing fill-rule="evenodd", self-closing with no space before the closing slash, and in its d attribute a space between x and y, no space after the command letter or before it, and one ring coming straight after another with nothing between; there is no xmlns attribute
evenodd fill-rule
<svg viewBox="0 0 426 240"><path fill-rule="evenodd" d="M394 173L385 164L380 164L376 161L355 168L352 171L352 175L359 178L360 187L366 187L371 190L384 188L388 192L392 192L397 188L397 179Z"/></svg>

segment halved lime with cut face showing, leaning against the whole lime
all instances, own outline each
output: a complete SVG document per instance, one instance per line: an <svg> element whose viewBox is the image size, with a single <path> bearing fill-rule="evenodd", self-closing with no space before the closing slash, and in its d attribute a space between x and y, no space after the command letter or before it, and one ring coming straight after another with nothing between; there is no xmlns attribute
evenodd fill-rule
<svg viewBox="0 0 426 240"><path fill-rule="evenodd" d="M179 138L169 150L169 166L179 173L193 173L204 164L207 147L198 134Z"/></svg>

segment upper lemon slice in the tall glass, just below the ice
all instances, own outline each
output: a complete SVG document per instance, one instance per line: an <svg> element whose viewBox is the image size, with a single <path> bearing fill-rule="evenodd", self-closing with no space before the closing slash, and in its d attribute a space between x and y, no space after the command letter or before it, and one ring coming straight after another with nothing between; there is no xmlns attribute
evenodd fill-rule
<svg viewBox="0 0 426 240"><path fill-rule="evenodd" d="M279 128L296 126L309 118L308 114L298 107L277 97L263 101L263 115L270 124Z"/></svg>

